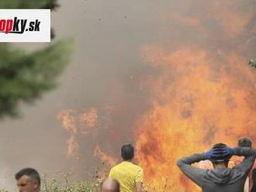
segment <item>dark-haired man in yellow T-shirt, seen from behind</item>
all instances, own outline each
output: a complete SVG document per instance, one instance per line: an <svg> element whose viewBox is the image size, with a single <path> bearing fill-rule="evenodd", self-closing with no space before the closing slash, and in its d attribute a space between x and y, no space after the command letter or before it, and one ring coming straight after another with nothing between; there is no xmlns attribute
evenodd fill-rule
<svg viewBox="0 0 256 192"><path fill-rule="evenodd" d="M123 162L112 167L109 178L119 183L120 192L142 192L143 170L132 163L134 148L131 144L122 146Z"/></svg>

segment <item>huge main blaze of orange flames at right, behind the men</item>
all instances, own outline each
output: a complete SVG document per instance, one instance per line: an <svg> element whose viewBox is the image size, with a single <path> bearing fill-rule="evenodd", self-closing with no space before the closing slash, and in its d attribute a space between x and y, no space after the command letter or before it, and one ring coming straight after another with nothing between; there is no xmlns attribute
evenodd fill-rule
<svg viewBox="0 0 256 192"><path fill-rule="evenodd" d="M168 178L171 191L197 191L176 161L216 142L236 146L244 135L256 141L256 73L234 53L221 61L201 49L147 46L143 53L161 76L145 85L152 107L138 123L138 162L150 183Z"/></svg>

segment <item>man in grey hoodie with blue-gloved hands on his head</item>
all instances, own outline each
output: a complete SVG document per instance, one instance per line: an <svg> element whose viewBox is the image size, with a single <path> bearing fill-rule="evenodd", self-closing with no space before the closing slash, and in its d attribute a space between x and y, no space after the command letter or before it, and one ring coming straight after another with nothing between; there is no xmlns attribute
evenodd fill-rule
<svg viewBox="0 0 256 192"><path fill-rule="evenodd" d="M231 156L244 156L245 158L240 165L230 169L228 163ZM202 192L242 192L255 156L254 149L247 147L231 149L223 143L217 143L207 153L179 159L177 165L186 176L202 187ZM192 166L192 163L206 159L213 163L213 170Z"/></svg>

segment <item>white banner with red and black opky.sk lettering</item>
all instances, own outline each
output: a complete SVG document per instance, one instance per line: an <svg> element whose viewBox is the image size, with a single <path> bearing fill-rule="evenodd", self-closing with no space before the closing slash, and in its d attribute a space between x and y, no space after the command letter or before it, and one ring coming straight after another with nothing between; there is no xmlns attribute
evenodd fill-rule
<svg viewBox="0 0 256 192"><path fill-rule="evenodd" d="M0 9L0 42L50 42L50 9Z"/></svg>

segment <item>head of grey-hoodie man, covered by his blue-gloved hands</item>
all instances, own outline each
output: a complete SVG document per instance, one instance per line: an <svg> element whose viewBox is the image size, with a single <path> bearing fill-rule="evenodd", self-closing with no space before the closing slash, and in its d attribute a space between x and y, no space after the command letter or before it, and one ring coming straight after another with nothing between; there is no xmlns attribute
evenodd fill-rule
<svg viewBox="0 0 256 192"><path fill-rule="evenodd" d="M230 153L227 152L227 145L224 143L216 143L212 150L212 156L210 161L213 163L213 166L227 166L230 160Z"/></svg>

